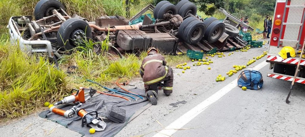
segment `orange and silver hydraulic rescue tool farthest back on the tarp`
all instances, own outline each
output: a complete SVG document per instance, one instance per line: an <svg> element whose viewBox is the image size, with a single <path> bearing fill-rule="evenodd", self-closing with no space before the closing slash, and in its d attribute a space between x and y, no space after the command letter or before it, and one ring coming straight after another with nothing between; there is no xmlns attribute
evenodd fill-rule
<svg viewBox="0 0 305 137"><path fill-rule="evenodd" d="M56 102L54 105L61 105L61 104L69 104L69 103L76 103L81 102L85 103L86 100L90 99L95 93L96 90L92 90L92 88L83 88L79 87L79 90L72 89L72 91L77 91L76 93L72 93L70 96L64 97L61 101Z"/></svg>

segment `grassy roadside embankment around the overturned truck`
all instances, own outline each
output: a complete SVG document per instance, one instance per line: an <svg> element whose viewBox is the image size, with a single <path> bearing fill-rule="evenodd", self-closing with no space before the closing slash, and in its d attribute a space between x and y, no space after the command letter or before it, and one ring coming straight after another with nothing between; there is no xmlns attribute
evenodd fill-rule
<svg viewBox="0 0 305 137"><path fill-rule="evenodd" d="M76 51L70 56L60 59L60 69L44 58L33 57L20 51L17 45L11 45L7 34L7 22L11 16L32 15L38 0L34 1L0 1L0 121L8 118L26 116L43 106L45 101L55 102L70 94L72 88L93 87L96 85L86 82L92 79L105 86L114 86L118 78L132 79L139 77L141 60L146 52L126 54L125 58L110 60L107 53L95 54L87 44L86 50ZM61 0L72 15L77 13L93 20L101 15L125 16L124 2L121 0L81 1ZM141 2L131 5L131 16L152 2ZM90 7L90 8L89 8ZM188 61L188 57L165 55L170 66ZM70 70L69 66L77 66Z"/></svg>

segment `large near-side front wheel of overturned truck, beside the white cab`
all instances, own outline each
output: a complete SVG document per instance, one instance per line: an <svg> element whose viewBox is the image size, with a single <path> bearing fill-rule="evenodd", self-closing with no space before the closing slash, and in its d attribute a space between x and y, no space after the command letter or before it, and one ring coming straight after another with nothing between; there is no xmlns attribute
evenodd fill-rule
<svg viewBox="0 0 305 137"><path fill-rule="evenodd" d="M57 32L57 45L71 50L78 45L84 45L84 39L91 38L91 28L86 21L71 18L65 21Z"/></svg>

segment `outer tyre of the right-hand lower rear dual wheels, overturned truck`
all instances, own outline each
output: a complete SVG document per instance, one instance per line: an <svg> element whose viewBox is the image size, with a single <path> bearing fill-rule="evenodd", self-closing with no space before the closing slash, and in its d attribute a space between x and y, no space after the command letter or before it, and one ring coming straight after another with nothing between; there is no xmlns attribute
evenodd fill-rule
<svg viewBox="0 0 305 137"><path fill-rule="evenodd" d="M204 38L210 42L216 42L223 34L225 25L219 20L212 22L207 28L204 34Z"/></svg>

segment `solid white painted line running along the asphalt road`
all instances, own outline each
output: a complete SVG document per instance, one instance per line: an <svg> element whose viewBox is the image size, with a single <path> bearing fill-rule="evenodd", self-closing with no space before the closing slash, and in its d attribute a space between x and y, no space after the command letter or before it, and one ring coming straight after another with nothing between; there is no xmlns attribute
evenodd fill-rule
<svg viewBox="0 0 305 137"><path fill-rule="evenodd" d="M269 64L264 60L263 62L259 63L257 66L253 68L253 70L260 70L264 66ZM173 129L179 129L182 128L185 124L190 122L193 118L195 118L198 114L200 114L202 111L204 111L206 108L209 107L209 105L213 104L217 100L219 100L221 97L223 97L225 94L227 94L229 91L231 91L233 88L237 86L237 79L234 79L231 83L226 85L225 87L221 88L219 91L214 93L212 96L207 98L206 100L202 101L200 104L189 110L187 113L183 114L180 118L176 119L174 122L172 122L170 125L166 126L165 129L169 130L162 130L159 133L155 134L153 137L168 137L168 135L173 135L177 130Z"/></svg>

